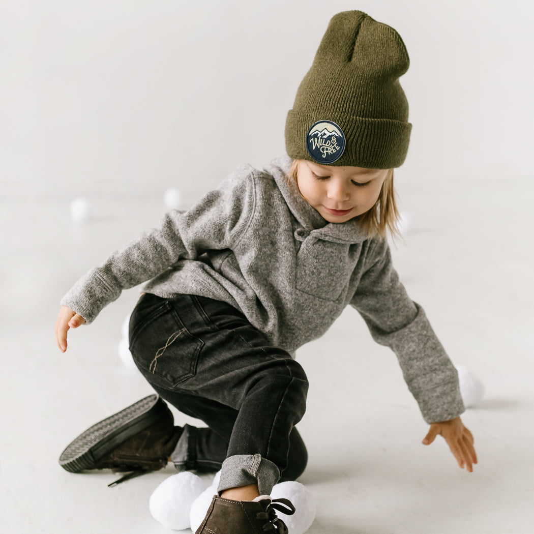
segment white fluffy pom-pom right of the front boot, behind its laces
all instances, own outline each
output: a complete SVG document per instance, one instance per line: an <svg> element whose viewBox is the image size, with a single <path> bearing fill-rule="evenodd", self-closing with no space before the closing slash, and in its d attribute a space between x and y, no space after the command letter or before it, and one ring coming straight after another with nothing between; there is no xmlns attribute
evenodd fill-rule
<svg viewBox="0 0 534 534"><path fill-rule="evenodd" d="M287 525L291 534L303 534L315 520L315 500L300 482L280 482L271 491L273 499L289 499L295 507L293 515L277 511L278 517Z"/></svg>

